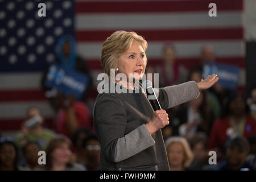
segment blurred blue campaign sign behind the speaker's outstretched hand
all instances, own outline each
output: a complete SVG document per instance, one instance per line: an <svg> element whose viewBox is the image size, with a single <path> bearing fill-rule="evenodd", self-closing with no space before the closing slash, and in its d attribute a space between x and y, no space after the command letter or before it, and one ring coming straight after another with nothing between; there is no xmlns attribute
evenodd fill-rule
<svg viewBox="0 0 256 182"><path fill-rule="evenodd" d="M220 63L207 63L203 68L203 78L213 73L219 77L218 83L225 89L236 89L240 68Z"/></svg>

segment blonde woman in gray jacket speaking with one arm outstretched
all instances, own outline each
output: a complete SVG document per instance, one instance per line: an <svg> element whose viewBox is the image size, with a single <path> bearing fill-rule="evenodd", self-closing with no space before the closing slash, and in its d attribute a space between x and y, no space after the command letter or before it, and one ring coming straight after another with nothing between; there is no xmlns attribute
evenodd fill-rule
<svg viewBox="0 0 256 182"><path fill-rule="evenodd" d="M137 89L135 82L142 80L145 72L146 49L142 36L126 31L114 32L102 45L104 72L110 78L110 69L114 69L115 74L127 77L114 77L109 85L112 82L127 92L100 92L96 98L93 123L101 143L101 170L169 170L160 130L169 124L166 110L197 98L200 89L218 81L213 74L198 83L155 89L162 109L154 111L146 94L133 92Z"/></svg>

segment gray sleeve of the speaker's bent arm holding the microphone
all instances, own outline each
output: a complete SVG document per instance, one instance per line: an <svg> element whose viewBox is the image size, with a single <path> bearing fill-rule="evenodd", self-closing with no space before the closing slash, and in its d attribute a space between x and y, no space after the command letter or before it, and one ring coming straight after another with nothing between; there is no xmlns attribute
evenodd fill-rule
<svg viewBox="0 0 256 182"><path fill-rule="evenodd" d="M94 106L94 125L100 138L102 152L118 163L155 144L145 125L125 134L127 117L121 100L104 94Z"/></svg>

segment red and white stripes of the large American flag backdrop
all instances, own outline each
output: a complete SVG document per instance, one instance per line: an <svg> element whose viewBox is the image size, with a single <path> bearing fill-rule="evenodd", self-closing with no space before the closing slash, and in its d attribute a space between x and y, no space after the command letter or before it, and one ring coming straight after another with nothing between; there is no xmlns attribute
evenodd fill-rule
<svg viewBox="0 0 256 182"><path fill-rule="evenodd" d="M94 86L102 72L101 45L116 30L131 30L148 42L148 63L159 63L166 43L176 47L177 59L193 67L205 44L214 47L217 61L245 67L243 1L214 1L217 17L208 16L212 1L76 1L76 40L79 55L92 69ZM14 130L28 106L38 106L50 121L51 106L40 89L41 73L0 74L0 128ZM96 89L94 92L97 92ZM97 93L92 93L92 97Z"/></svg>

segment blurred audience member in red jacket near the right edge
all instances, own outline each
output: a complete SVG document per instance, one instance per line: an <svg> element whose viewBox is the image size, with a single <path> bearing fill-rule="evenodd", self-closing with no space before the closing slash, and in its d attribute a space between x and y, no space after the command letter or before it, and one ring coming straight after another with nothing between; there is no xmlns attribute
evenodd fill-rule
<svg viewBox="0 0 256 182"><path fill-rule="evenodd" d="M250 137L254 134L256 134L256 120L248 114L242 95L235 93L227 102L225 117L217 119L213 124L208 149L216 150L220 155L226 140L234 137Z"/></svg>

